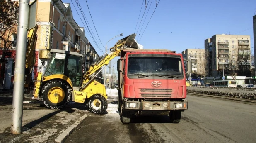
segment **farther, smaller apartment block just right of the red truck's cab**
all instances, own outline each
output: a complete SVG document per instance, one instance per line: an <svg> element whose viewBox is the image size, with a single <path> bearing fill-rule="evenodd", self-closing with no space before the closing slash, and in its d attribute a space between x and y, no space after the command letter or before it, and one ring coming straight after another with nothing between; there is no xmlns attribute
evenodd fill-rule
<svg viewBox="0 0 256 143"><path fill-rule="evenodd" d="M192 74L204 75L204 49L186 49L181 52L184 59L192 61ZM186 68L186 65L185 65Z"/></svg>

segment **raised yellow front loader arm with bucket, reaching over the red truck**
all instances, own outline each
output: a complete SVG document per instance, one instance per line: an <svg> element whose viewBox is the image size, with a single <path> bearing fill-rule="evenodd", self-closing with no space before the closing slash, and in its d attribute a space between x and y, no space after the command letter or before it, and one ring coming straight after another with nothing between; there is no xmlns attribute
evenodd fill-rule
<svg viewBox="0 0 256 143"><path fill-rule="evenodd" d="M95 73L102 66L108 65L109 61L114 59L116 56L120 56L120 52L126 48L135 48L138 49L137 42L135 42L136 34L129 35L121 40L118 40L114 47L110 48L109 54L104 54L98 61L92 64L89 70L83 76L83 83L81 86L81 90L85 89L85 87L96 77L98 73Z"/></svg>

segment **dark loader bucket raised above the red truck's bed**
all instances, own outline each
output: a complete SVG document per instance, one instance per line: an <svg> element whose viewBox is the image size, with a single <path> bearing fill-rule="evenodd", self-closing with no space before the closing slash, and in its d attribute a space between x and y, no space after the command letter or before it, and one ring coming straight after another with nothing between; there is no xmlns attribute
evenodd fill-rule
<svg viewBox="0 0 256 143"><path fill-rule="evenodd" d="M120 39L116 42L115 47L117 45L122 44L120 47L122 47L123 49L125 48L134 48L134 49L138 49L138 44L137 42L134 40L135 39L136 34L132 34L129 35L123 39ZM119 47L119 46L118 46Z"/></svg>

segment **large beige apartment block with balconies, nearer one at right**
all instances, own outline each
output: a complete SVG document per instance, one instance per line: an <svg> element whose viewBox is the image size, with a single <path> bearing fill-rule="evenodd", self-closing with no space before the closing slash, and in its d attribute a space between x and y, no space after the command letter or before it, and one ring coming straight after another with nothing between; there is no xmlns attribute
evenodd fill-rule
<svg viewBox="0 0 256 143"><path fill-rule="evenodd" d="M221 34L205 39L207 77L226 76L232 72L236 76L251 77L250 42L249 35Z"/></svg>

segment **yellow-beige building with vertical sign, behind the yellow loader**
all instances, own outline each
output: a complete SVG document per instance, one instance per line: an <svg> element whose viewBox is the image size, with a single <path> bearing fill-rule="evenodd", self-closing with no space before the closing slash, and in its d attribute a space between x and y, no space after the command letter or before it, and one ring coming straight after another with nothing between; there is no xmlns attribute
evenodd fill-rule
<svg viewBox="0 0 256 143"><path fill-rule="evenodd" d="M84 54L85 68L99 59L85 36L85 28L80 27L73 18L70 4L62 0L38 0L36 21L39 27L36 42L38 66L41 66L42 60L47 64L50 49Z"/></svg>

